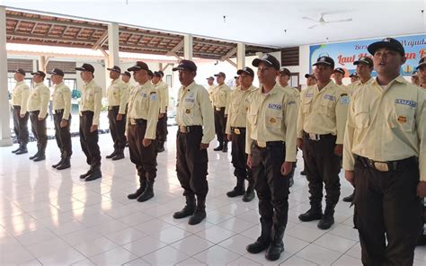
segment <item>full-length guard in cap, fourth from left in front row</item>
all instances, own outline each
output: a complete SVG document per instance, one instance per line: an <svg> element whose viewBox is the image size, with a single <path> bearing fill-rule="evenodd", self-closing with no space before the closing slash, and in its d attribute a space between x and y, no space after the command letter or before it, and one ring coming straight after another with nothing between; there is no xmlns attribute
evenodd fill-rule
<svg viewBox="0 0 426 266"><path fill-rule="evenodd" d="M82 97L80 100L80 144L82 146L86 162L90 165L89 171L80 175L80 179L86 182L102 178L101 152L98 145L99 114L102 108L102 88L93 80L94 67L83 64L75 67L81 71L80 76L84 81Z"/></svg>

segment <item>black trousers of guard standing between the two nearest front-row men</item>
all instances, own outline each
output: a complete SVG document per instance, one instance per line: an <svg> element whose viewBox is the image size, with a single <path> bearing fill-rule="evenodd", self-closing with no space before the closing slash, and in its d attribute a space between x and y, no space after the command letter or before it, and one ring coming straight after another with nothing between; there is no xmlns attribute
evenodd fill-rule
<svg viewBox="0 0 426 266"><path fill-rule="evenodd" d="M336 137L323 135L321 140L303 139L303 158L306 178L309 186L311 206L321 206L323 200L323 182L325 184L325 203L335 206L341 195L340 158L334 155Z"/></svg>

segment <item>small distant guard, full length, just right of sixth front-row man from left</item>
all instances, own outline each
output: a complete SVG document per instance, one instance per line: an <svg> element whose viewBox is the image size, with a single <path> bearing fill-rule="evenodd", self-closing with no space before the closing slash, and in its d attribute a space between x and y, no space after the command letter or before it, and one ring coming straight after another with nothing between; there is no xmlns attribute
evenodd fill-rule
<svg viewBox="0 0 426 266"><path fill-rule="evenodd" d="M226 75L223 72L215 74L217 86L211 93L211 99L215 108L215 129L219 145L215 151L227 152L227 137L225 135L226 118L230 100L231 88L225 84Z"/></svg>

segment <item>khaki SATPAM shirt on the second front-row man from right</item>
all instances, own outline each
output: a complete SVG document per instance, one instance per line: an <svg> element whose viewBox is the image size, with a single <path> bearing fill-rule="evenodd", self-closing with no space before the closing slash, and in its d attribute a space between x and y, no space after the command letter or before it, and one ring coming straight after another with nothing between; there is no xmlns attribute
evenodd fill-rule
<svg viewBox="0 0 426 266"><path fill-rule="evenodd" d="M252 154L252 143L266 146L268 141L286 142L286 162L296 162L297 104L280 84L275 84L270 93L262 88L248 97L247 134L245 153Z"/></svg>

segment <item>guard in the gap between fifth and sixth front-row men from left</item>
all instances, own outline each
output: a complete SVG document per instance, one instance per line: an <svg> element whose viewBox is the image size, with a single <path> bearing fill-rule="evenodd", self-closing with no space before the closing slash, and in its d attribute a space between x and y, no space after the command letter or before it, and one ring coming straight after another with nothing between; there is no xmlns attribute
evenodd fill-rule
<svg viewBox="0 0 426 266"><path fill-rule="evenodd" d="M155 71L153 84L160 95L160 113L156 124L157 152L164 152L164 142L167 141L167 107L169 106L169 85L163 81L163 71Z"/></svg>

